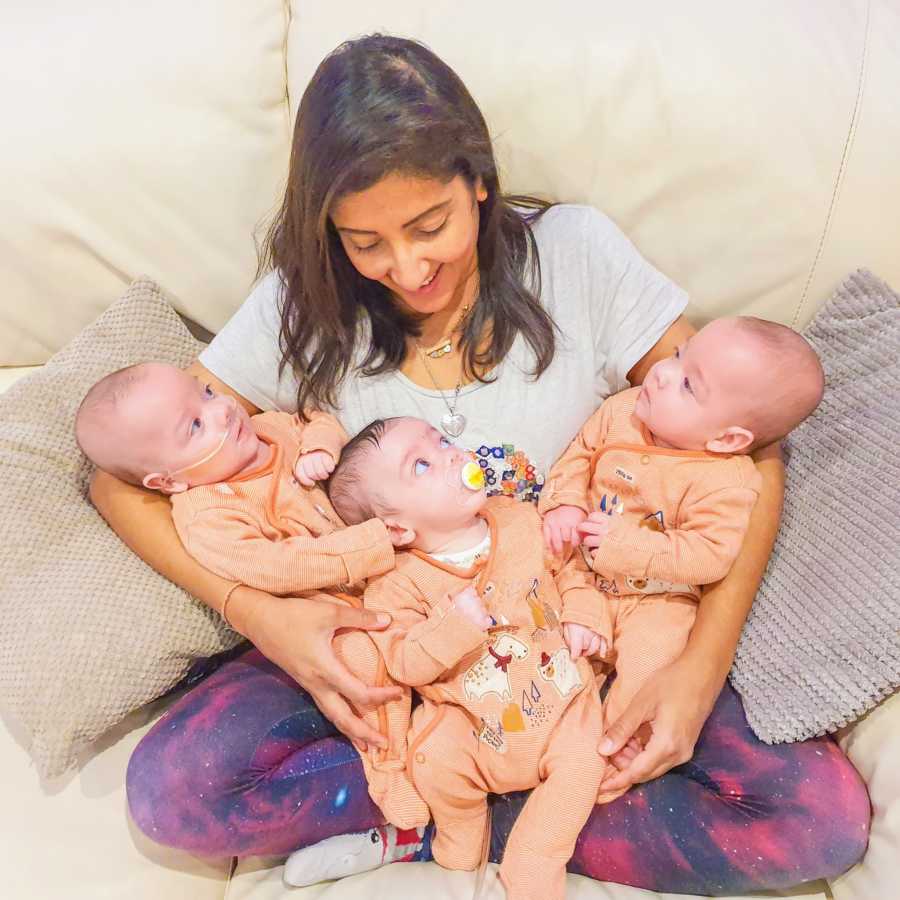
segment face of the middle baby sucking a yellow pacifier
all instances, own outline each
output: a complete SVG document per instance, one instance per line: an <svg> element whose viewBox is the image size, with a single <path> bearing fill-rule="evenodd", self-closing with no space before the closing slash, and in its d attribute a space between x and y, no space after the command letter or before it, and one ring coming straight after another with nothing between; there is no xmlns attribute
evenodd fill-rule
<svg viewBox="0 0 900 900"><path fill-rule="evenodd" d="M443 534L471 523L487 499L483 489L463 484L462 469L470 461L427 422L401 418L388 424L380 452L369 454L364 487L420 537Z"/></svg>

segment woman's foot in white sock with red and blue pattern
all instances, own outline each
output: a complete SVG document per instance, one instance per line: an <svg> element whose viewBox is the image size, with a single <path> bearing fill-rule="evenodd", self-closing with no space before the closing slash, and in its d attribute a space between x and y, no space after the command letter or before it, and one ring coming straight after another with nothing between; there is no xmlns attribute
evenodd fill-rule
<svg viewBox="0 0 900 900"><path fill-rule="evenodd" d="M422 849L424 828L401 831L379 825L355 834L338 834L292 853L284 866L284 883L306 887L346 878L386 863L409 862Z"/></svg>

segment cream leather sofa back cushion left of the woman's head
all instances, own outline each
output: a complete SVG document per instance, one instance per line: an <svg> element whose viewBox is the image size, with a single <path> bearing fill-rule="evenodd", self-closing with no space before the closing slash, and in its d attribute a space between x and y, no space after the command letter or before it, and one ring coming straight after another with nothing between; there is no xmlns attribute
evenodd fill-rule
<svg viewBox="0 0 900 900"><path fill-rule="evenodd" d="M5 4L0 365L45 362L142 274L221 327L283 188L286 17L283 0Z"/></svg>

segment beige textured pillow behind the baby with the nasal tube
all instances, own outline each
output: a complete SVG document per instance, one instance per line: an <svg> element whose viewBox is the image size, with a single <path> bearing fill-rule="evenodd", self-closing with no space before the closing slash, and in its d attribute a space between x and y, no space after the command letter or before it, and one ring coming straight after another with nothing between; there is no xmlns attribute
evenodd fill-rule
<svg viewBox="0 0 900 900"><path fill-rule="evenodd" d="M218 614L135 556L85 499L75 411L107 372L183 366L202 344L150 281L0 396L0 703L44 776L239 640Z"/></svg>

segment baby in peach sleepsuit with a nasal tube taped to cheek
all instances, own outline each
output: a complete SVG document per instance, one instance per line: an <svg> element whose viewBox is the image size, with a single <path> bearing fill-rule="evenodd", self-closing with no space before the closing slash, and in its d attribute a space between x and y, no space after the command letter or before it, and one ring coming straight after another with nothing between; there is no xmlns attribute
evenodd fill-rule
<svg viewBox="0 0 900 900"><path fill-rule="evenodd" d="M327 414L312 413L306 423L281 412L251 418L232 397L180 369L144 363L95 384L78 410L75 432L98 467L170 495L186 550L223 578L296 595L361 589L393 567L382 522L369 518L344 527L316 483L334 468L346 441ZM362 604L359 590L315 596ZM378 699L401 696L366 632L341 633L334 646L378 688ZM377 726L378 720L369 740L386 745ZM363 762L372 797L390 821L407 829L428 822L428 809L402 768L382 767L366 755Z"/></svg>

